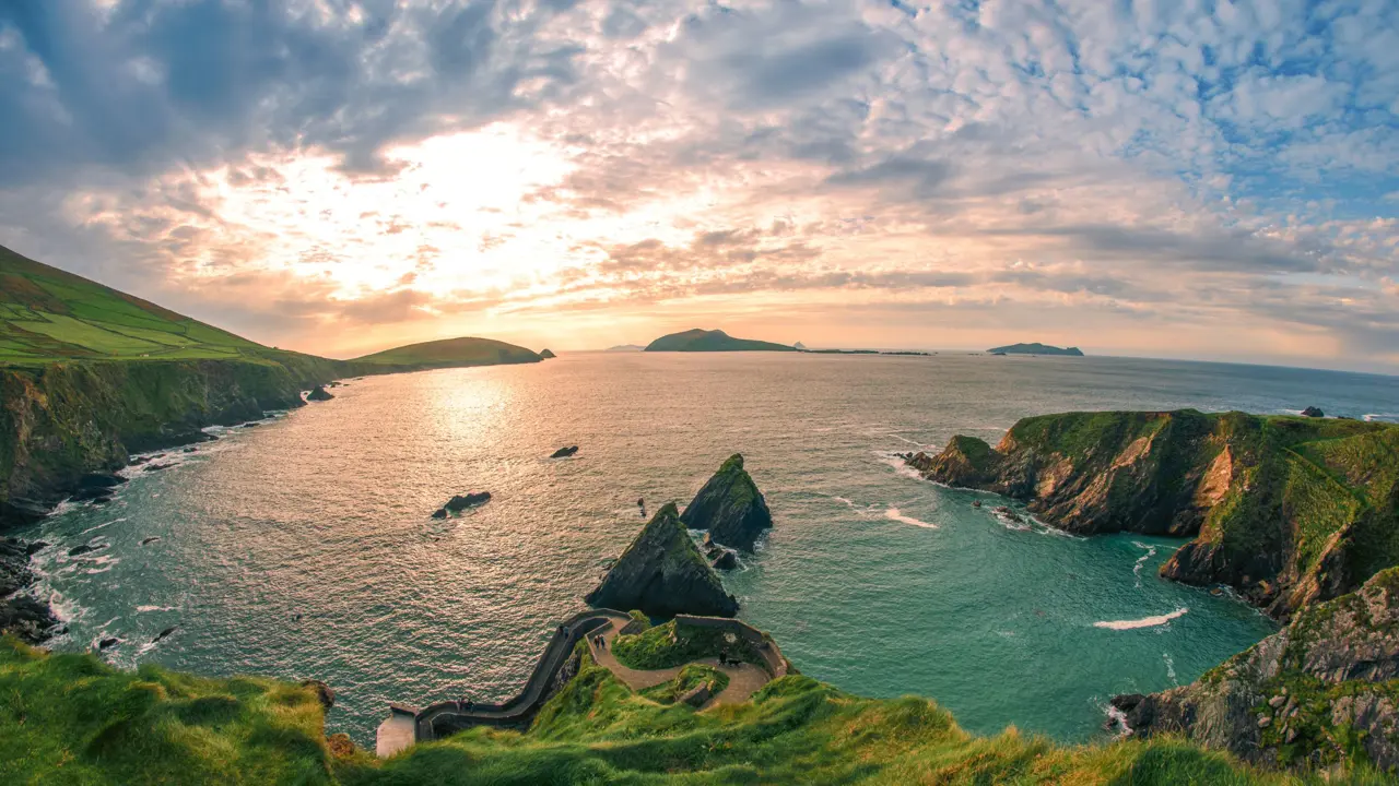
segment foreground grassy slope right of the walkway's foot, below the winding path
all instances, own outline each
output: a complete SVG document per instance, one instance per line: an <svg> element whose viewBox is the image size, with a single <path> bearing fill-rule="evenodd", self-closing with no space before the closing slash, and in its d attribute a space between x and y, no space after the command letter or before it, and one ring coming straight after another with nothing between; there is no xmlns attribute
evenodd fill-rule
<svg viewBox="0 0 1399 786"><path fill-rule="evenodd" d="M585 655L527 733L477 729L386 762L378 783L1300 783L1177 740L1059 747L1014 730L974 737L933 702L865 699L803 676L750 703L697 713L632 694ZM1381 783L1356 773L1356 783Z"/></svg>

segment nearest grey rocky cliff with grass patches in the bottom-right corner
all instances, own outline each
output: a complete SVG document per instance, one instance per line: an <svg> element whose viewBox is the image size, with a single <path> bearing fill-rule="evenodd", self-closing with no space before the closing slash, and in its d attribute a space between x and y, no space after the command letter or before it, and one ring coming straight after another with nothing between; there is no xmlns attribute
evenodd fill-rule
<svg viewBox="0 0 1399 786"><path fill-rule="evenodd" d="M1132 734L1284 766L1399 769L1399 569L1297 614L1198 683L1112 699Z"/></svg>

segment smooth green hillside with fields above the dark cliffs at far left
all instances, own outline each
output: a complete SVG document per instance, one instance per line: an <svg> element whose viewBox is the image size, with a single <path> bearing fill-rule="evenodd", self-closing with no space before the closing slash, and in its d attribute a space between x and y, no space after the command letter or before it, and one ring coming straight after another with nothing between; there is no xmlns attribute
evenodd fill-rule
<svg viewBox="0 0 1399 786"><path fill-rule="evenodd" d="M0 362L246 359L280 354L0 246Z"/></svg>

